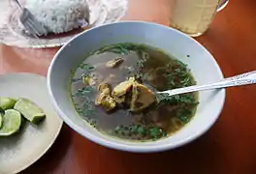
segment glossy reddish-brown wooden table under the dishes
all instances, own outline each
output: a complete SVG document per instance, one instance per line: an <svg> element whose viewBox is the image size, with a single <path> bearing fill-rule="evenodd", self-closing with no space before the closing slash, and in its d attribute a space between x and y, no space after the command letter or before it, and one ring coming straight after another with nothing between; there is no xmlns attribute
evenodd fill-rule
<svg viewBox="0 0 256 174"><path fill-rule="evenodd" d="M166 0L130 0L126 19L168 25ZM231 0L197 39L225 76L256 70L256 1ZM47 74L57 48L0 46L0 73ZM255 174L256 86L227 90L218 122L196 141L159 154L130 154L94 144L64 126L47 155L23 174Z"/></svg>

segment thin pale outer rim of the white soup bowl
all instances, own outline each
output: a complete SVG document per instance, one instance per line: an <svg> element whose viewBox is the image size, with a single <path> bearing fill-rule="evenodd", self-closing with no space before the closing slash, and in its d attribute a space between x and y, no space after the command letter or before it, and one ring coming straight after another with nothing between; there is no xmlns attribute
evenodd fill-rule
<svg viewBox="0 0 256 174"><path fill-rule="evenodd" d="M201 43L197 42L196 40L194 40L193 38L185 35L184 33L174 29L174 28L171 28L171 27L168 27L168 26L165 26L165 25L162 25L162 24L158 24L158 23L154 23L154 22L149 22L149 21L134 21L134 20L125 20L125 21L117 21L117 22L112 22L112 23L109 23L109 24L104 24L104 25L100 25L100 26L97 26L97 27L94 27L94 28L90 28L86 31L83 31L81 32L79 35L77 35L76 37L74 37L72 40L70 40L68 43L65 43L58 51L57 53L54 55L50 65L49 65L49 68L48 68L48 93L49 93L49 96L50 96L50 99L51 99L51 102L54 106L54 108L56 109L56 111L58 112L58 114L60 115L60 117L63 119L63 121L70 127L72 128L74 131L77 131L78 133L80 133L80 135L82 135L83 137L89 139L90 141L92 142L95 142L97 144L100 144L102 146L105 146L105 147L108 147L108 148L111 148L111 149L115 149L115 150L120 150L120 151L126 151L126 152L133 152L133 153L154 153L154 152L162 152L162 151L167 151L167 150L171 150L171 149L176 149L177 147L180 147L180 146L183 146L187 143L190 143L192 142L193 140L197 139L198 137L200 137L201 135L205 134L213 125L214 123L216 122L216 120L219 118L220 116L220 113L222 112L222 109L223 109L223 106L224 106L224 103L225 103L225 99L226 99L226 90L225 89L221 89L220 92L221 92L221 99L220 99L220 104L219 104L219 107L218 107L218 111L216 113L216 116L215 118L210 122L208 123L208 126L205 127L204 130L202 131L198 131L196 133L193 133L191 134L190 136L186 137L185 139L182 139L182 140L179 140L179 141L176 141L176 143L165 143L165 144L161 144L161 145L155 145L155 146L144 146L144 143L138 143L138 145L134 146L134 145L125 145L125 144L120 144L118 142L113 142L113 141L110 141L110 140L105 140L99 136L96 136L96 135L93 135L91 133L88 133L88 132L84 132L79 126L77 126L76 124L74 124L71 119L69 119L69 117L66 116L66 114L62 111L62 109L59 107L59 105L57 104L55 98L54 98L54 95L52 93L52 90L51 90L51 80L50 80L50 76L51 76L51 72L52 72L52 69L54 67L54 64L57 60L57 58L59 57L59 55L61 54L62 50L66 48L66 46L68 46L70 43L72 43L74 40L76 40L77 38L79 38L81 35L87 33L87 32L90 32L91 30L94 30L94 29L97 29L97 28L100 28L100 27L105 27L105 26L111 26L111 25L118 25L118 24L127 24L127 23L130 23L130 24L145 24L145 25L154 25L155 27L162 27L162 28L166 28L166 29L169 29L169 30L172 30L173 32L176 32L176 33L179 33L179 35L182 35L182 37L185 37L187 38L188 40L192 40L194 43L197 43L200 47L202 47L203 49L205 49L205 51L208 52L208 54L210 55L210 59L211 61L214 63L214 66L216 68L216 71L218 73L218 75L221 77L221 78L224 78L224 75L217 63L217 61L214 59L214 57L212 56L212 54L208 51L208 49L202 45Z"/></svg>

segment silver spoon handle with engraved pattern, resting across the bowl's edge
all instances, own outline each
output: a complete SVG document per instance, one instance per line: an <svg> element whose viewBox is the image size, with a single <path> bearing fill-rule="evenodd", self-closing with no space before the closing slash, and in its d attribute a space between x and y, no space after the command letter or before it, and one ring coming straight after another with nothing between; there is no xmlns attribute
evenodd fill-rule
<svg viewBox="0 0 256 174"><path fill-rule="evenodd" d="M242 73L229 78L224 78L216 83L211 83L207 85L194 85L185 88L178 88L174 90L158 92L158 94L169 94L169 96L174 96L178 94L191 93L196 91L213 90L219 88L227 88L232 86L242 86L256 83L256 71L249 73Z"/></svg>

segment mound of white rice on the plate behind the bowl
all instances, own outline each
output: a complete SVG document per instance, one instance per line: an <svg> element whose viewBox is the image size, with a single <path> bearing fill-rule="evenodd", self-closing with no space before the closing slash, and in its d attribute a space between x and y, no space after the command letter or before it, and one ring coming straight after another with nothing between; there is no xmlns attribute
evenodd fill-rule
<svg viewBox="0 0 256 174"><path fill-rule="evenodd" d="M48 33L59 34L79 28L89 17L86 0L26 0L25 7Z"/></svg>

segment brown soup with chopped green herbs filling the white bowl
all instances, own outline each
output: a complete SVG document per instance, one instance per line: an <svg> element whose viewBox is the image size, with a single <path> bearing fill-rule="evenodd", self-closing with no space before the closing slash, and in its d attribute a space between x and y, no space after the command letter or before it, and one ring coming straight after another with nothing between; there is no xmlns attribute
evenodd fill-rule
<svg viewBox="0 0 256 174"><path fill-rule="evenodd" d="M128 79L132 79L133 87L129 86ZM122 104L112 97L120 83L129 86ZM105 90L109 93L108 107L103 107L105 102L97 102L99 91L104 90L102 84L112 91ZM136 84L142 87L139 92L148 92L140 95L149 102L157 91L194 85L196 81L185 64L157 48L118 43L104 46L84 59L71 82L72 99L80 116L92 127L129 140L156 140L172 135L193 117L197 93L173 97L155 95L150 103L132 106Z"/></svg>

